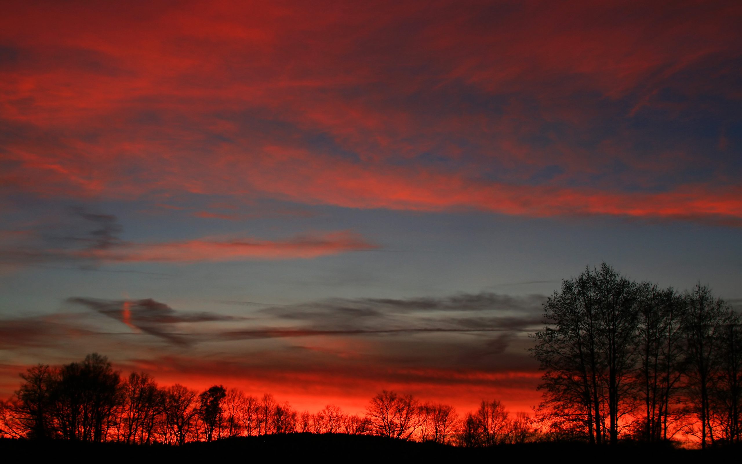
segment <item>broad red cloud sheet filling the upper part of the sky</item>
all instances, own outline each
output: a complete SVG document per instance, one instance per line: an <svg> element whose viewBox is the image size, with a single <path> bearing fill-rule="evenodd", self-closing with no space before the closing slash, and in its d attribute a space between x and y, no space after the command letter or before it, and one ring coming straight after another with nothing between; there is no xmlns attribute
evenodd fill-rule
<svg viewBox="0 0 742 464"><path fill-rule="evenodd" d="M4 189L742 217L732 156L707 158L729 144L674 128L696 107L670 108L663 137L631 122L667 105L663 91L737 101L723 79L738 2L12 8L0 19ZM732 123L720 105L699 108ZM539 180L550 166L561 174Z"/></svg>

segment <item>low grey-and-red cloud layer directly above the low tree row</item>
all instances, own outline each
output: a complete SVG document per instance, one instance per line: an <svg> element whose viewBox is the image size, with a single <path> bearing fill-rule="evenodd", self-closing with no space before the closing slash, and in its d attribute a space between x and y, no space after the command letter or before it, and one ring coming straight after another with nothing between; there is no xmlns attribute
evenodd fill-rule
<svg viewBox="0 0 742 464"><path fill-rule="evenodd" d="M358 408L375 389L397 388L467 404L500 391L522 407L534 396L522 390L538 378L525 334L540 327L543 299L334 298L230 316L185 313L151 298L75 297L68 308L85 312L3 320L0 349L66 353L61 359L95 349L160 382L223 381L300 403L335 396Z"/></svg>

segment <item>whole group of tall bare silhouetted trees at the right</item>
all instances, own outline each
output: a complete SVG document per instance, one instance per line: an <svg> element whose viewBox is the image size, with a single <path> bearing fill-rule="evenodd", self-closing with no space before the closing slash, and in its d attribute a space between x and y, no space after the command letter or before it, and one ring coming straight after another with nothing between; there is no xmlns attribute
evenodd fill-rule
<svg viewBox="0 0 742 464"><path fill-rule="evenodd" d="M681 293L603 264L563 281L544 310L532 350L544 430L595 444L740 442L742 319L709 287Z"/></svg>

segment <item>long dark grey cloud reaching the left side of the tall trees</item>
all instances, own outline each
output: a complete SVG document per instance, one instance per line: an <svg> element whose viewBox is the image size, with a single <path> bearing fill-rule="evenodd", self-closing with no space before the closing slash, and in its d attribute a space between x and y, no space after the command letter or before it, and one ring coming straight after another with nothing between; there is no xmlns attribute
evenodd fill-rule
<svg viewBox="0 0 742 464"><path fill-rule="evenodd" d="M229 330L218 337L394 336L402 340L413 335L460 334L467 336L458 338L462 356L482 359L505 352L525 332L540 327L545 300L544 295L496 293L439 298L330 298L264 307L256 312L263 327Z"/></svg>

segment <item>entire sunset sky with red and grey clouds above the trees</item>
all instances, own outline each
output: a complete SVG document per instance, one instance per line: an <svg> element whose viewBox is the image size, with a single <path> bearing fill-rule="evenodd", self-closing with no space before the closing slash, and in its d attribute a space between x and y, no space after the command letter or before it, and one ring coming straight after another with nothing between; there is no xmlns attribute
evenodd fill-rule
<svg viewBox="0 0 742 464"><path fill-rule="evenodd" d="M585 267L742 304L738 1L0 3L2 398L530 411Z"/></svg>

